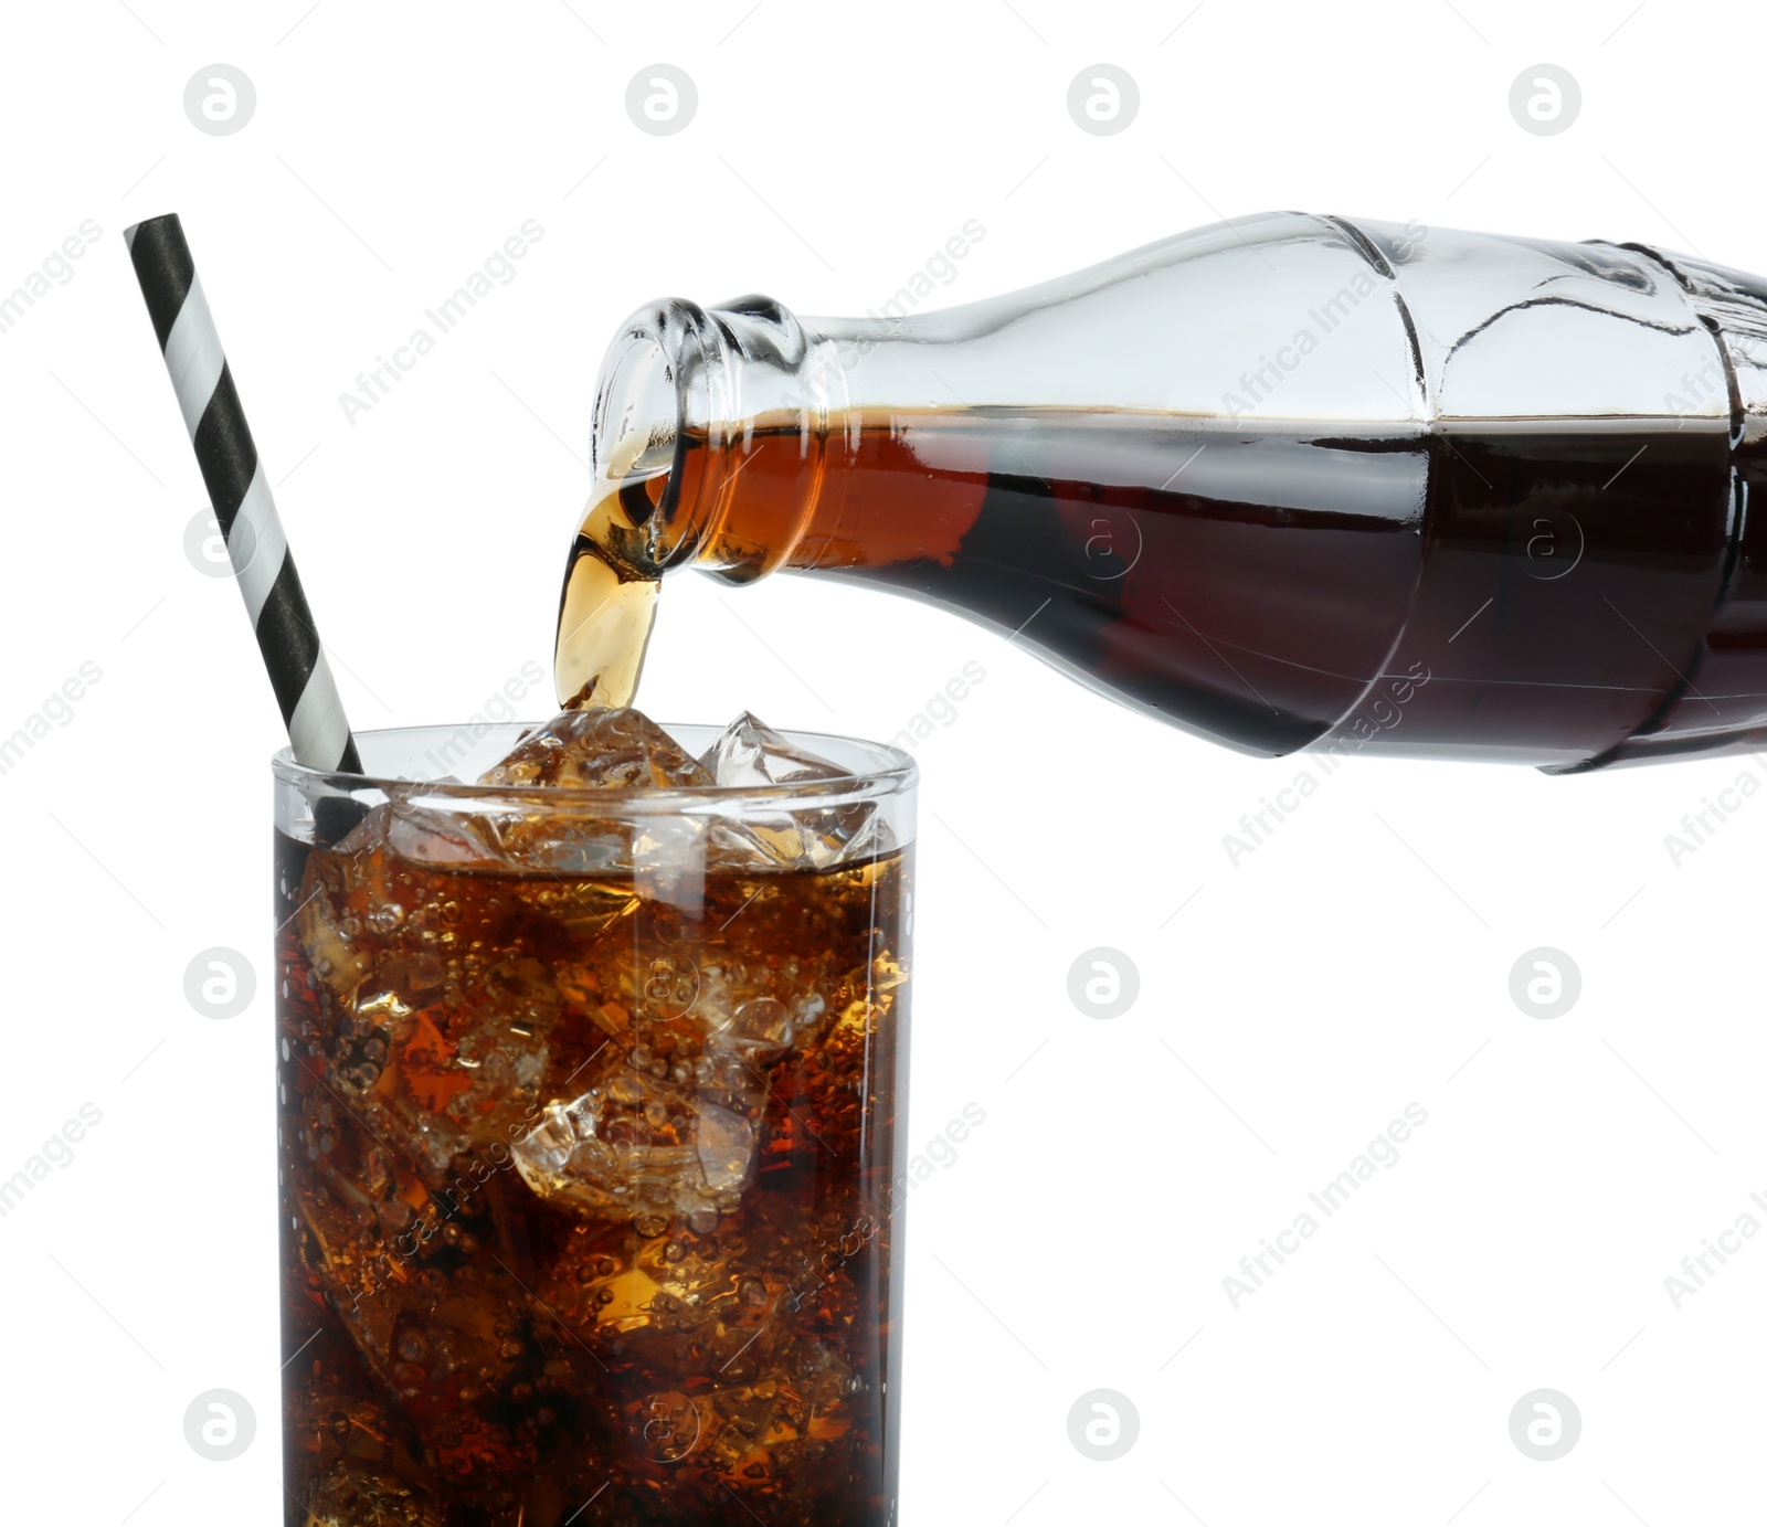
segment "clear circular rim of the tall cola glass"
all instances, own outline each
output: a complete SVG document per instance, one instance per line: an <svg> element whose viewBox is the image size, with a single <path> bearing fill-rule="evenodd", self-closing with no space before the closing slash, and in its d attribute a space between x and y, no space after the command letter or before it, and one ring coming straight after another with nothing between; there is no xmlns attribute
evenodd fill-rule
<svg viewBox="0 0 1767 1527"><path fill-rule="evenodd" d="M548 718L550 719L550 718ZM458 735L461 730L482 725L491 735L500 728L512 733L546 725L544 721L495 721L429 726L375 726L357 733L357 741L366 739L406 739L413 741L426 732L442 737ZM705 730L719 733L724 728L707 721L659 721L671 737L682 730ZM555 815L571 815L594 808L595 815L606 815L608 808L617 808L620 815L663 815L682 813L694 806L716 808L719 813L740 811L744 802L779 808L781 804L841 804L850 801L875 801L887 795L901 795L914 790L921 778L921 765L914 755L889 742L873 742L866 737L848 737L839 732L802 732L785 728L781 737L818 753L818 742L832 742L841 749L861 748L875 760L873 767L841 772L822 779L788 779L783 785L477 785L456 779L410 779L399 776L375 774L369 771L352 772L346 769L315 769L300 764L290 746L277 748L270 755L270 771L283 785L290 785L306 795L353 795L373 790L389 799L401 799L419 806L444 806L459 802L466 808L486 808L504 802L521 809L550 809ZM843 767L838 760L829 760L834 767Z"/></svg>

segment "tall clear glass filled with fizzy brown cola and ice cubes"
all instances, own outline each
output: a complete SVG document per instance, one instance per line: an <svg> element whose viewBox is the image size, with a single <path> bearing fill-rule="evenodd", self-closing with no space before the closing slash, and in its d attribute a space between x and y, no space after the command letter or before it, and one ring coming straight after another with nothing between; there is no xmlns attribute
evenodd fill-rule
<svg viewBox="0 0 1767 1527"><path fill-rule="evenodd" d="M286 1522L892 1523L914 764L519 732L274 764Z"/></svg>

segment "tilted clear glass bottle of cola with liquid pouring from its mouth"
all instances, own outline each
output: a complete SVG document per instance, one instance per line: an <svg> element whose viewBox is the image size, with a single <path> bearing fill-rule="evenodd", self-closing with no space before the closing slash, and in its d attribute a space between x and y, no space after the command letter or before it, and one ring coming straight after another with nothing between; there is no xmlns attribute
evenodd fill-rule
<svg viewBox="0 0 1767 1527"><path fill-rule="evenodd" d="M622 325L562 700L629 700L698 567L931 601L1267 756L1767 742L1760 277L1272 212L910 309Z"/></svg>

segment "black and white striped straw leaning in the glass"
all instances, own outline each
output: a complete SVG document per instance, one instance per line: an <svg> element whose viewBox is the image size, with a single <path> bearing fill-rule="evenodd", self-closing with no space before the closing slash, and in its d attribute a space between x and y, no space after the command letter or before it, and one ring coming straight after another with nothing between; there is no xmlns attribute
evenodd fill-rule
<svg viewBox="0 0 1767 1527"><path fill-rule="evenodd" d="M124 240L295 758L309 769L359 774L362 762L343 700L300 592L295 558L178 216L168 212L136 223L124 230Z"/></svg>

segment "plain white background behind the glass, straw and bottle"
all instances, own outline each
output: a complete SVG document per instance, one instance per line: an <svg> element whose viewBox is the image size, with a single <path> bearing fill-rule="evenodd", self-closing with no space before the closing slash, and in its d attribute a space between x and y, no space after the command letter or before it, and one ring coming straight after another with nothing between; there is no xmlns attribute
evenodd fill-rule
<svg viewBox="0 0 1767 1527"><path fill-rule="evenodd" d="M9 1520L279 1520L279 725L237 592L186 560L205 500L124 226L184 217L364 728L459 719L548 657L595 369L650 297L857 313L974 217L942 292L968 300L1278 207L1767 269L1732 7L1191 4L7 14L0 292L102 228L0 334L0 733L102 670L0 778L0 1177L102 1110L0 1219ZM214 62L256 85L233 136L184 115ZM677 136L624 110L654 62L698 83ZM1096 62L1140 85L1117 136L1066 110ZM1558 136L1509 115L1539 62L1581 85ZM339 392L530 217L518 277L348 422ZM968 659L984 682L919 749L910 1136L965 1103L988 1122L914 1197L903 1520L1758 1511L1767 1246L1680 1310L1663 1283L1739 1214L1767 1221L1767 804L1679 868L1663 841L1756 765L1352 762L1233 868L1221 836L1299 760L1138 719L912 603L682 578L643 698L889 737ZM184 999L209 946L258 965L230 1022ZM1094 946L1140 969L1117 1020L1067 997ZM1509 997L1537 946L1583 977L1551 1022ZM1239 1258L1412 1101L1430 1121L1399 1165L1232 1308ZM214 1387L256 1409L233 1463L184 1440ZM1140 1414L1113 1463L1067 1440L1097 1387ZM1551 1463L1509 1437L1537 1387L1583 1417Z"/></svg>

